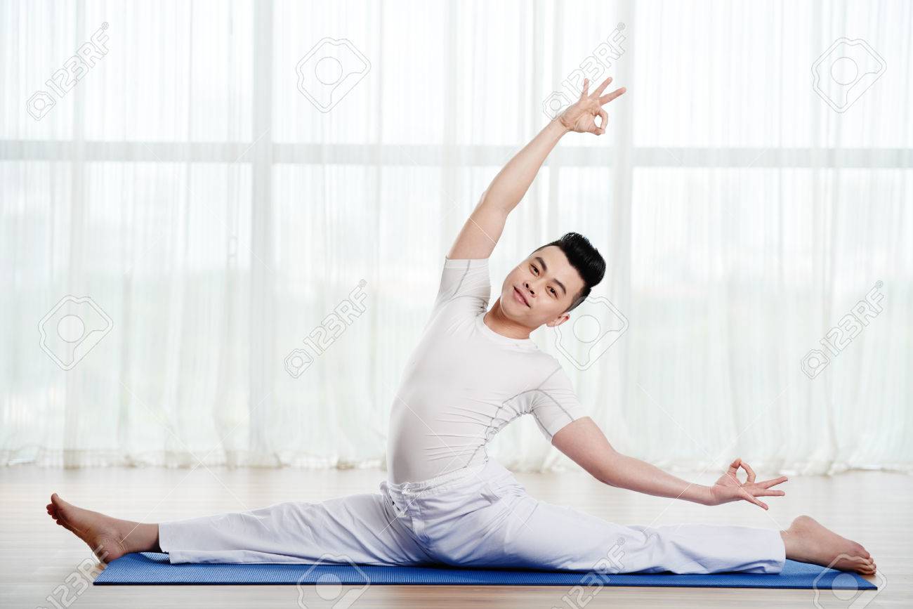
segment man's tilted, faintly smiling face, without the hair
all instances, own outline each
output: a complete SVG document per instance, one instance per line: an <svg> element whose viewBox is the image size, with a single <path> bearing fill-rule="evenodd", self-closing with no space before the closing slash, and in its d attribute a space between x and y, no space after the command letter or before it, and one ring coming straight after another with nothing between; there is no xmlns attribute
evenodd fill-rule
<svg viewBox="0 0 913 609"><path fill-rule="evenodd" d="M571 266L561 247L537 249L510 271L501 286L501 310L530 330L547 324L558 326L583 289L583 279Z"/></svg>

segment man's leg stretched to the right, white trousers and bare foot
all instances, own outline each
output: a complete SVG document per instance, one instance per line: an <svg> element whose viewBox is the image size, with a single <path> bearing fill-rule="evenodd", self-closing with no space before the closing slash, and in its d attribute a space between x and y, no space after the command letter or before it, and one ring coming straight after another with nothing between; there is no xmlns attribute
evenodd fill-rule
<svg viewBox="0 0 913 609"><path fill-rule="evenodd" d="M865 548L807 516L793 520L784 531L702 524L623 526L534 499L515 480L498 483L490 500L490 506L461 521L467 539L475 542L447 548L448 562L606 573L777 573L786 558L827 566L844 554L834 568L862 574L876 569Z"/></svg>

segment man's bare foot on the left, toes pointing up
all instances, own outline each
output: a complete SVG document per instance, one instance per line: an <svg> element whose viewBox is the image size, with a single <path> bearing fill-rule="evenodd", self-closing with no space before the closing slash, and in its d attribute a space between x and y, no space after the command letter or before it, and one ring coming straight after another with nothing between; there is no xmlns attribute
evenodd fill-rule
<svg viewBox="0 0 913 609"><path fill-rule="evenodd" d="M97 511L77 508L60 499L57 493L51 495L47 513L58 525L88 543L101 562L114 561L133 551L157 550L158 525L119 520Z"/></svg>

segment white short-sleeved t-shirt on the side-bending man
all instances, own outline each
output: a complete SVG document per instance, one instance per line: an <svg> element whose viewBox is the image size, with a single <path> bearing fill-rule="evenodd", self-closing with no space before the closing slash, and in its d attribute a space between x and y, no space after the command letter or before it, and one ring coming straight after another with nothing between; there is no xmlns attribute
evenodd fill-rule
<svg viewBox="0 0 913 609"><path fill-rule="evenodd" d="M488 442L520 415L533 415L550 442L586 415L554 357L488 328L490 292L487 258L445 258L434 309L394 398L390 482L484 463Z"/></svg>

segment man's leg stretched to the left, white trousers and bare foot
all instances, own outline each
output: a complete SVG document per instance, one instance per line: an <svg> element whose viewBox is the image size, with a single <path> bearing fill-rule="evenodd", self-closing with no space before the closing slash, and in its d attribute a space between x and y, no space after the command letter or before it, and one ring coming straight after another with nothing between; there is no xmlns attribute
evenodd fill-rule
<svg viewBox="0 0 913 609"><path fill-rule="evenodd" d="M56 494L47 510L103 562L134 551L167 551L171 562L431 562L379 493L160 524L114 519Z"/></svg>

